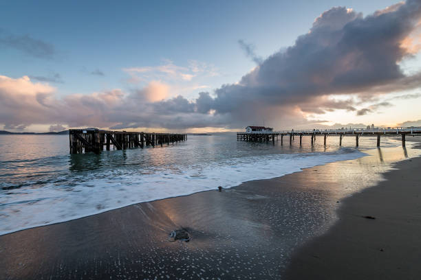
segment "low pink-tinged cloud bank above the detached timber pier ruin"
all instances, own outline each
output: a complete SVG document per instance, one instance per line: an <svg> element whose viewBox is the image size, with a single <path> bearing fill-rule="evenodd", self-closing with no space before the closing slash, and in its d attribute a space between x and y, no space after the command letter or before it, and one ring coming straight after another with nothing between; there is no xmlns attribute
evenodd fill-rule
<svg viewBox="0 0 421 280"><path fill-rule="evenodd" d="M224 127L229 119L198 113L196 104L182 96L166 98L170 87L151 82L143 89L120 89L72 94L59 99L56 89L33 82L28 76L0 75L0 124L23 129L31 124L65 124L69 127L171 128ZM56 126L53 126L56 129Z"/></svg>

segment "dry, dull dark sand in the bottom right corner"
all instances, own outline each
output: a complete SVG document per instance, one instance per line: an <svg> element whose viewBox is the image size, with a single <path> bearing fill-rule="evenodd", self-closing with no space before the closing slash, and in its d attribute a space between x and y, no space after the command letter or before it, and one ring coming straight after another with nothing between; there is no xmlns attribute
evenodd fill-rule
<svg viewBox="0 0 421 280"><path fill-rule="evenodd" d="M421 279L421 158L395 167L345 199L332 229L296 251L286 279Z"/></svg>

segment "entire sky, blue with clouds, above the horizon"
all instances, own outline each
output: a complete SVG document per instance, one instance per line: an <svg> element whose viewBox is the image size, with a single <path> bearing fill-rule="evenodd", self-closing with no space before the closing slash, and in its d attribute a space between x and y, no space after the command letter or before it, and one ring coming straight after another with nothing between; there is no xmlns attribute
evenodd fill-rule
<svg viewBox="0 0 421 280"><path fill-rule="evenodd" d="M0 129L421 126L421 0L2 1Z"/></svg>

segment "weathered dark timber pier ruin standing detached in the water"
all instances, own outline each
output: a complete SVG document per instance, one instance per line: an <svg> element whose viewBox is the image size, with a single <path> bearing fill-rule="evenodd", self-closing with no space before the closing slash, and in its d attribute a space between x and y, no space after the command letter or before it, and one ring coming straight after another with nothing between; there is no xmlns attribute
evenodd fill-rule
<svg viewBox="0 0 421 280"><path fill-rule="evenodd" d="M187 135L155 132L127 132L99 130L96 128L69 130L70 154L94 152L99 154L104 150L125 150L129 148L144 148L147 146L177 143L186 141Z"/></svg>

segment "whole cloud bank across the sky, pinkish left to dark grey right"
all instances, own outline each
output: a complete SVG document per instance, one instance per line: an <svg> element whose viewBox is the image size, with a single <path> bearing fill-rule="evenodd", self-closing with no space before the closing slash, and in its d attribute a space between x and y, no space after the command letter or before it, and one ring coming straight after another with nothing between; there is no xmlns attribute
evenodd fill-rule
<svg viewBox="0 0 421 280"><path fill-rule="evenodd" d="M56 89L47 84L0 76L0 123L8 127L239 128L262 121L273 126L308 124L307 115L336 109L364 115L389 104L356 106L377 102L381 94L420 86L421 73L405 75L400 67L402 60L420 49L411 39L420 19L420 0L365 17L344 7L332 8L294 45L255 60L257 67L239 82L198 93L195 100L169 98L171 89L156 81L143 89L58 99ZM346 97L335 98L339 95Z"/></svg>

